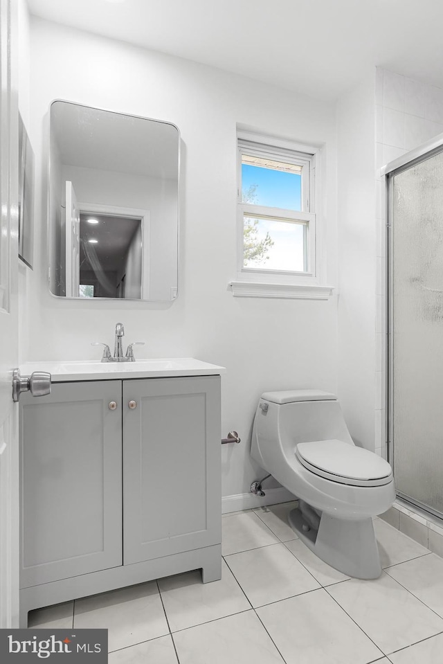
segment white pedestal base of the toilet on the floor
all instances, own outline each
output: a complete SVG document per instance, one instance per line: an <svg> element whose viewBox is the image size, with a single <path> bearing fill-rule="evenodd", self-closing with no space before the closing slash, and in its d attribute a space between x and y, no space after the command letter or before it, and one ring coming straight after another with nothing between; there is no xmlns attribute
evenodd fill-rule
<svg viewBox="0 0 443 664"><path fill-rule="evenodd" d="M330 514L320 517L318 530L303 530L306 521L297 508L288 515L289 526L319 558L356 579L378 579L381 564L372 519L351 521Z"/></svg>

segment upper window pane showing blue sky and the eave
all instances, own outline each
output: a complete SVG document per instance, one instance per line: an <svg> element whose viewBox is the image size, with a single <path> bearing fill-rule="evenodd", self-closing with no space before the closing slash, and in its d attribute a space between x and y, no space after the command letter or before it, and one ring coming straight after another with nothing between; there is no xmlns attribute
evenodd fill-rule
<svg viewBox="0 0 443 664"><path fill-rule="evenodd" d="M302 167L242 154L242 203L301 210Z"/></svg>

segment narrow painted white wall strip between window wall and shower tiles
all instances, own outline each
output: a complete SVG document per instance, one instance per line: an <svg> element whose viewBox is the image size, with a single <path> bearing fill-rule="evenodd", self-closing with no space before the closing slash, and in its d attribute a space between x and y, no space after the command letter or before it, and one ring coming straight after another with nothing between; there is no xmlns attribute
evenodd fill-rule
<svg viewBox="0 0 443 664"><path fill-rule="evenodd" d="M337 104L338 395L354 441L374 450L375 71Z"/></svg>

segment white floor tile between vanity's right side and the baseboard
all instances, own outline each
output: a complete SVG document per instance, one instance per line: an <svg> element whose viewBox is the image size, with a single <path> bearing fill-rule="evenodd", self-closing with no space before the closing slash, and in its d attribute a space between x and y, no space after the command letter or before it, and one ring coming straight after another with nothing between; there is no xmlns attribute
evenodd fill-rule
<svg viewBox="0 0 443 664"><path fill-rule="evenodd" d="M280 541L254 512L221 520L221 553L230 555Z"/></svg>

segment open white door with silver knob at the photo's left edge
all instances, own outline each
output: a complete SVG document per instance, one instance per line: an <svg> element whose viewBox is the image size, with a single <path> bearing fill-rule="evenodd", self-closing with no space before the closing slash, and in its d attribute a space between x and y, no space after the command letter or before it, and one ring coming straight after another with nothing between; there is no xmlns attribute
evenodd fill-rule
<svg viewBox="0 0 443 664"><path fill-rule="evenodd" d="M17 406L12 370L18 362L18 108L16 3L0 0L0 628L19 622L19 472Z"/></svg>

